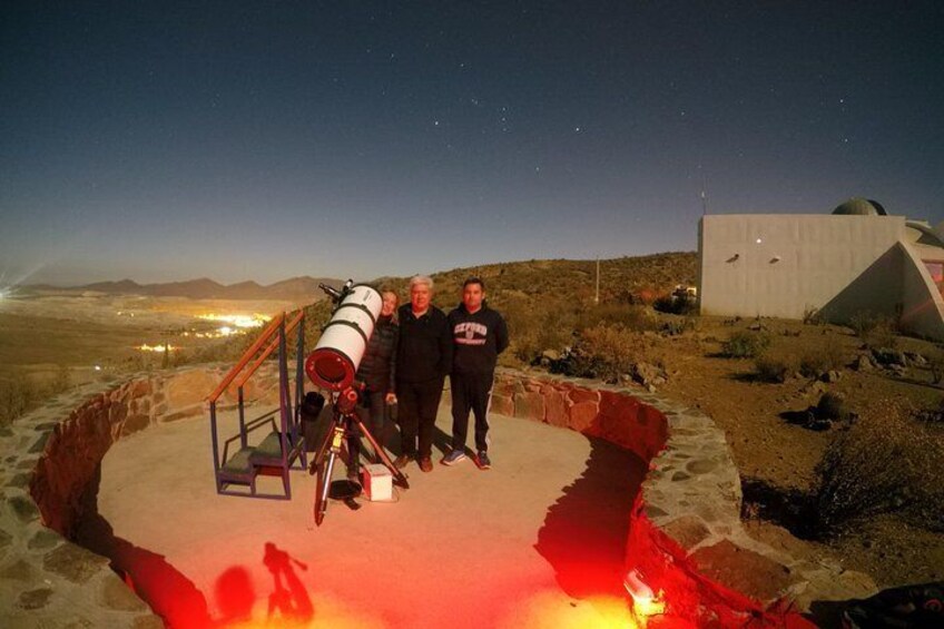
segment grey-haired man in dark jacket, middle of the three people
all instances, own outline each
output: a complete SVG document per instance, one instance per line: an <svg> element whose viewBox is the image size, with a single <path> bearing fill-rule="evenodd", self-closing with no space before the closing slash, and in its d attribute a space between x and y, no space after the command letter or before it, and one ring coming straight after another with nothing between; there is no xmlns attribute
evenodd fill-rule
<svg viewBox="0 0 944 629"><path fill-rule="evenodd" d="M402 452L394 464L405 466L419 456L420 469L433 471L433 429L443 382L452 367L452 336L445 314L435 307L433 281L410 281L410 303L401 306L396 348L396 399ZM419 454L416 438L419 433Z"/></svg>

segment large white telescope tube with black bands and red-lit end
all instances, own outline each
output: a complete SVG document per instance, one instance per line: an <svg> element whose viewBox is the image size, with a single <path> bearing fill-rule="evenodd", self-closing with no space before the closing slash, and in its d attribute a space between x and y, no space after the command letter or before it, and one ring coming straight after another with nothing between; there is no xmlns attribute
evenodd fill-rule
<svg viewBox="0 0 944 629"><path fill-rule="evenodd" d="M344 391L364 357L367 342L383 307L381 294L366 284L345 285L315 350L305 361L312 382L331 391Z"/></svg>

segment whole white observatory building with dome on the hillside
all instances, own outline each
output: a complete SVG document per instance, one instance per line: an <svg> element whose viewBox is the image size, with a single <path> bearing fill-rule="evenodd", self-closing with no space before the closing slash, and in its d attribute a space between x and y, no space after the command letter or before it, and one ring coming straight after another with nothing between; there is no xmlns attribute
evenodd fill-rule
<svg viewBox="0 0 944 629"><path fill-rule="evenodd" d="M888 216L852 198L829 215L704 216L698 227L701 314L847 323L895 317L944 341L944 223Z"/></svg>

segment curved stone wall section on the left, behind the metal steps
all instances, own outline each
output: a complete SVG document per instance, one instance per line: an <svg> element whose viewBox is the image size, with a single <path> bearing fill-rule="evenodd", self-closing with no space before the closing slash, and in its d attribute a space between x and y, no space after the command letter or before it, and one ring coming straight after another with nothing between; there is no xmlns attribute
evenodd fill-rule
<svg viewBox="0 0 944 629"><path fill-rule="evenodd" d="M278 403L272 367L247 383L247 400ZM181 368L96 383L0 429L0 627L164 627L108 559L69 540L111 444L206 413L204 399L224 374L222 366ZM227 391L220 405L234 406L235 394Z"/></svg>

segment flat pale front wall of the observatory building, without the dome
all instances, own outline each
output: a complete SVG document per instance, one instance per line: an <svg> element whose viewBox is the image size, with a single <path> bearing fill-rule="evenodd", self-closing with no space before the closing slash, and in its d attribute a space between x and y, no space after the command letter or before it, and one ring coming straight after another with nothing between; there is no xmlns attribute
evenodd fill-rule
<svg viewBox="0 0 944 629"><path fill-rule="evenodd" d="M903 307L902 216L714 215L699 223L702 314L835 321Z"/></svg>

